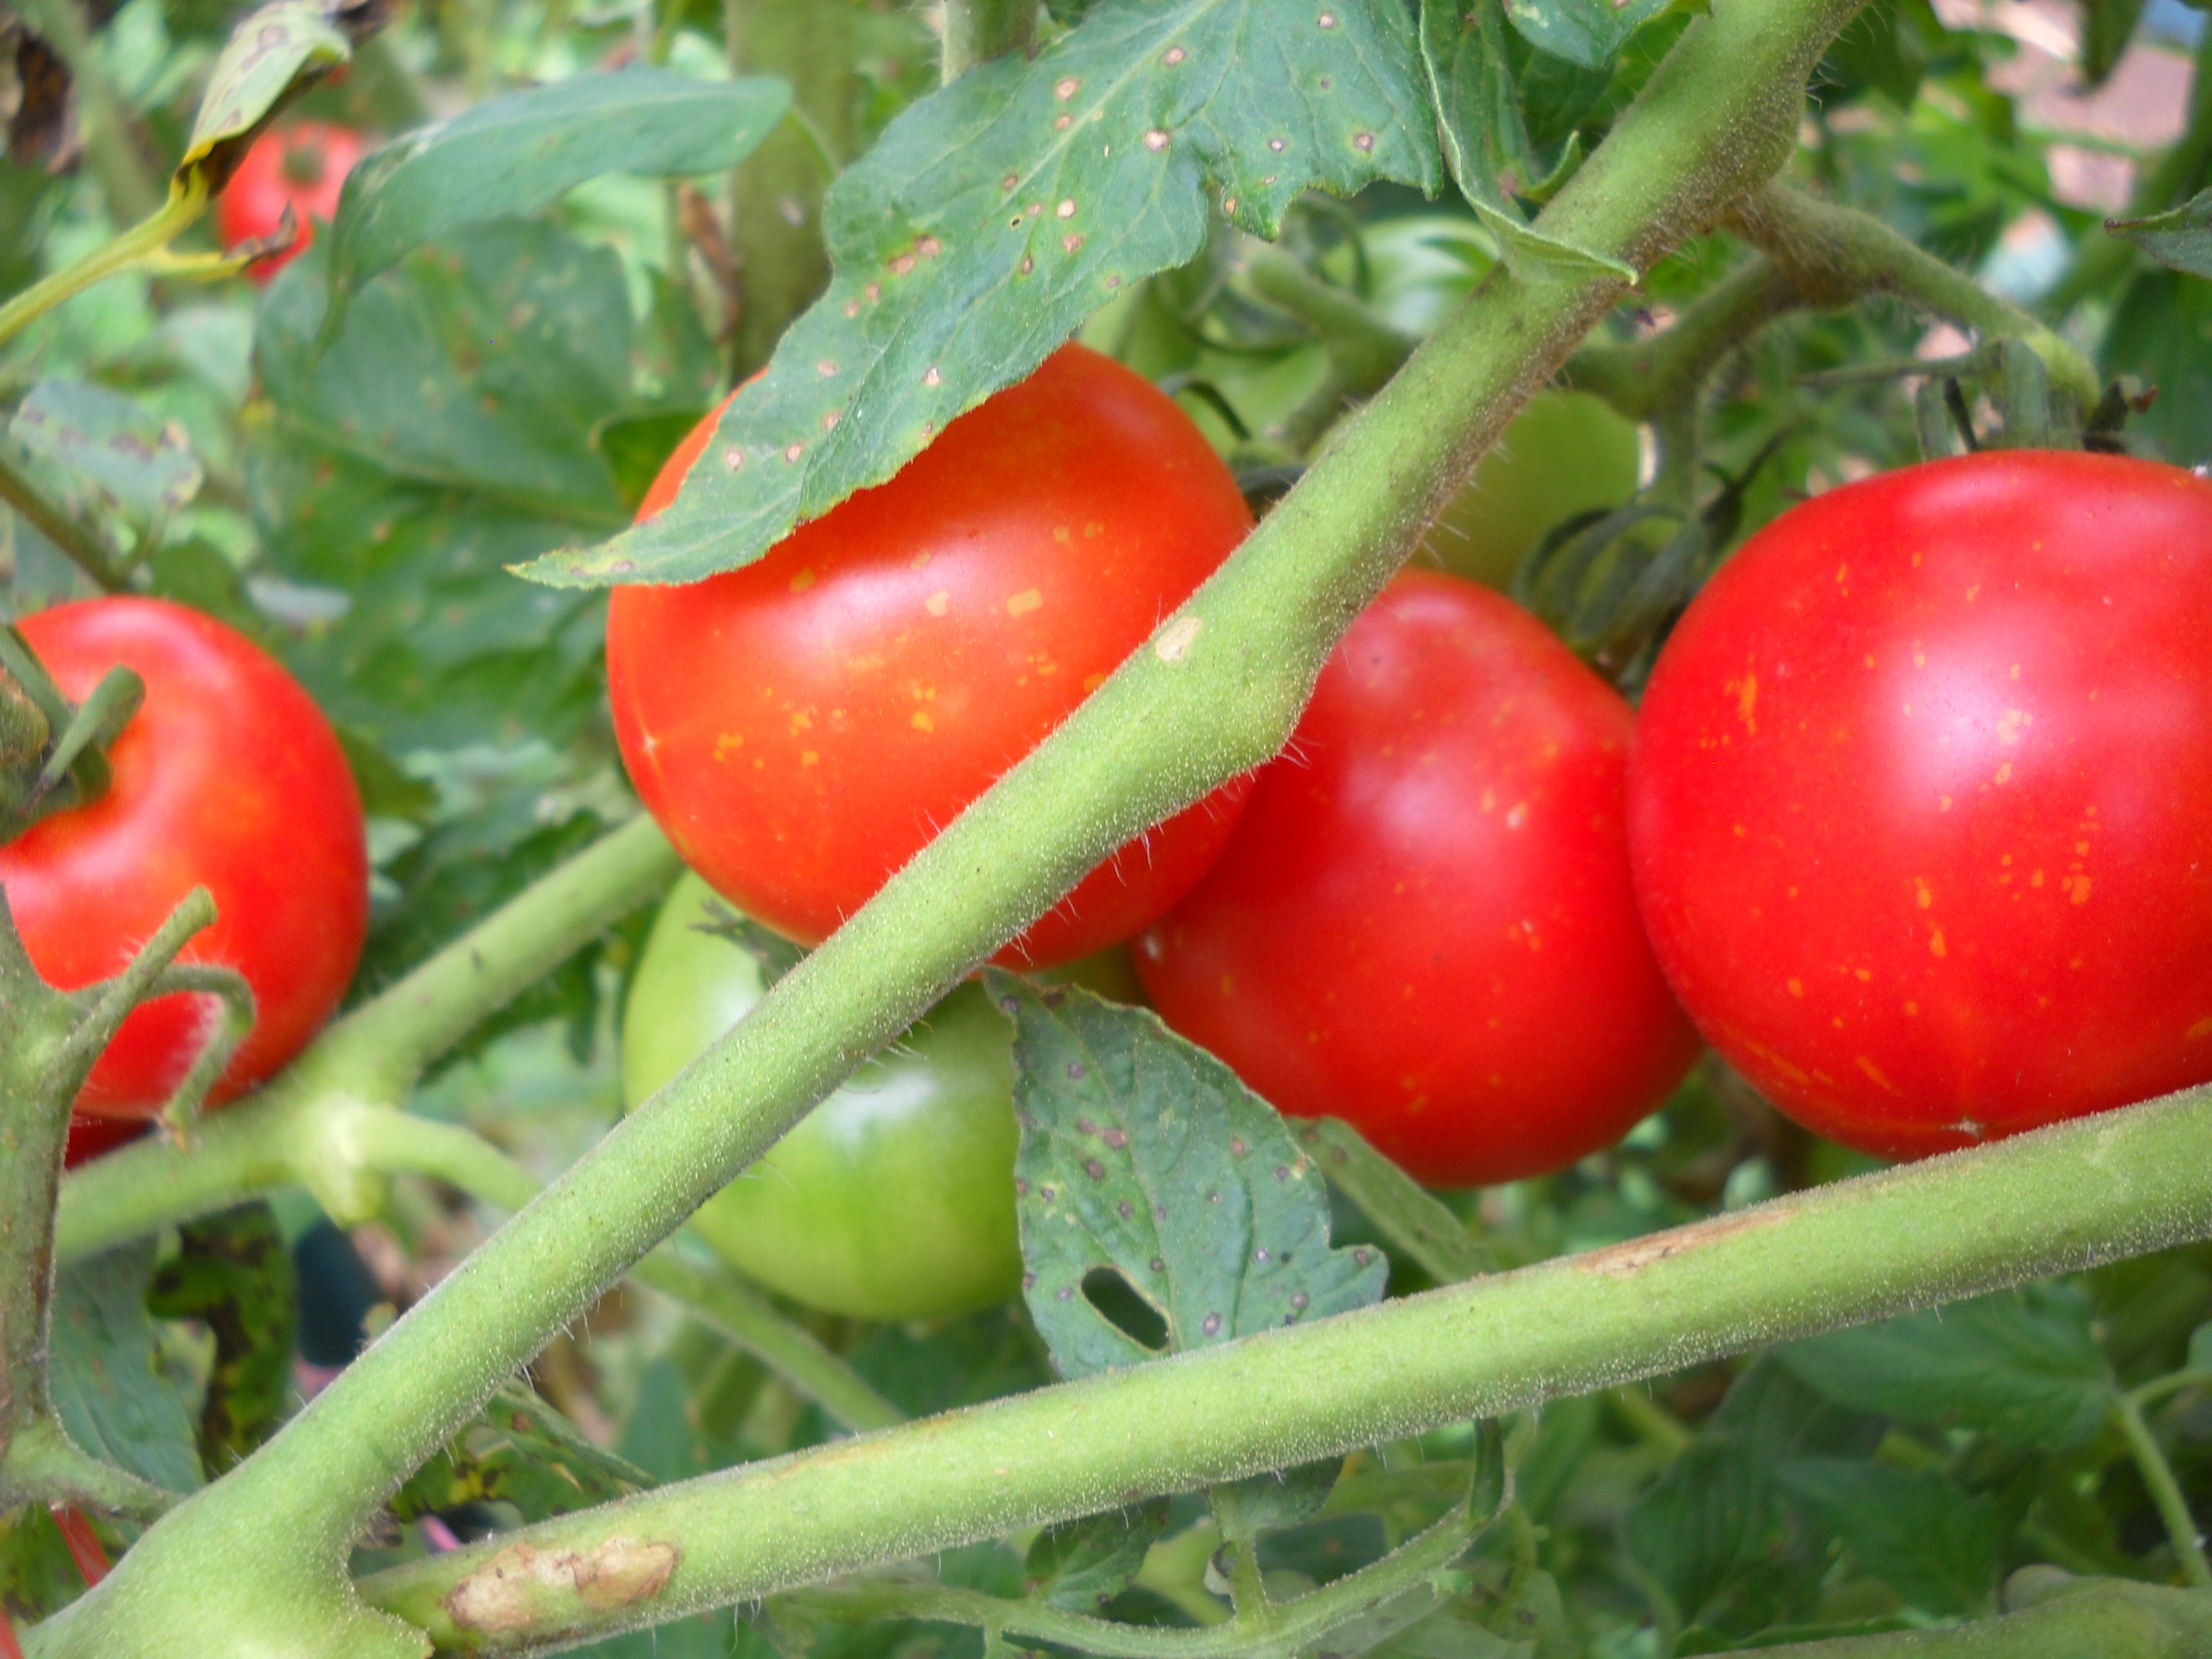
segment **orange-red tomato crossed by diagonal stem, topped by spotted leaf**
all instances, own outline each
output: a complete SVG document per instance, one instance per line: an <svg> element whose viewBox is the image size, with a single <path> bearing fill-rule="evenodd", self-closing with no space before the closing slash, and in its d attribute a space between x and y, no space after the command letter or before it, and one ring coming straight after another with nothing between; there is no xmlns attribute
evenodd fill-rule
<svg viewBox="0 0 2212 1659"><path fill-rule="evenodd" d="M675 498L714 418L641 515ZM692 869L814 945L1250 526L1190 418L1068 345L759 564L617 588L606 677L622 759ZM1206 872L1241 801L1230 785L1121 847L1002 960L1048 967L1128 938Z"/></svg>

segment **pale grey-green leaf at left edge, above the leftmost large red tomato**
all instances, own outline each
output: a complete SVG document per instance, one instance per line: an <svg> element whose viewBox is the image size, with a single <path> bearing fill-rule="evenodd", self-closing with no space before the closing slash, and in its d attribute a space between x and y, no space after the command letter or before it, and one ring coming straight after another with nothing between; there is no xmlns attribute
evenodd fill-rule
<svg viewBox="0 0 2212 1659"><path fill-rule="evenodd" d="M97 509L131 529L161 524L190 502L206 473L175 420L82 380L40 380L15 409L9 436L60 482L73 515Z"/></svg>

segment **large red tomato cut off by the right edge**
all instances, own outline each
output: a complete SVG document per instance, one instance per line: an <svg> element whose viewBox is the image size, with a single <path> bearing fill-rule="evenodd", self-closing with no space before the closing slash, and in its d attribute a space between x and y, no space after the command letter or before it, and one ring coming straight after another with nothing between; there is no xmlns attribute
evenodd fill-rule
<svg viewBox="0 0 2212 1659"><path fill-rule="evenodd" d="M1993 451L1792 509L1652 670L1630 845L1705 1037L1849 1146L2212 1077L2212 484Z"/></svg>

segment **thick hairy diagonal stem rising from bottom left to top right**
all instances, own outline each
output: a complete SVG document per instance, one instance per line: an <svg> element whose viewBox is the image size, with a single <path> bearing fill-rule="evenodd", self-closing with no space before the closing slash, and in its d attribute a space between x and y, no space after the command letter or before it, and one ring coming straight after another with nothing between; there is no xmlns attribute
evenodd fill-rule
<svg viewBox="0 0 2212 1659"><path fill-rule="evenodd" d="M1787 159L1805 77L1854 9L1856 0L1767 0L1694 20L1544 212L1546 234L1648 268L1710 226ZM254 1652L276 1630L303 1659L420 1652L411 1632L367 1615L338 1579L385 1495L502 1376L1104 854L1270 759L1343 628L1621 292L1606 272L1546 285L1493 272L1245 546L1046 743L274 1440L164 1517L100 1590L42 1626L38 1652L150 1655L166 1626L148 1615L177 1599L223 1628L232 1652ZM1365 1363L1387 1352L1387 1332L1343 1325L1352 1336L1338 1340L1352 1340ZM1385 1391L1389 1400L1363 1409L1418 1411L1411 1378ZM1219 1442L1201 1462L1241 1464L1225 1478L1296 1462L1296 1453L1274 1455L1285 1447L1250 1462L1248 1418L1221 1413L1210 1425ZM1175 1440L1139 1438L1161 1449ZM1053 1469L1055 1502L1082 1513L1110 1491L1097 1471L1113 1449L1077 1433L1062 1451L1084 1455ZM803 1486L816 1482L818 1473ZM894 1491L896 1502L885 1502ZM891 1515L914 1517L900 1526L916 1537L945 1522L942 1509L925 1511L898 1489L874 1486L869 1504L876 1517L852 1535L876 1535L878 1548ZM810 1535L821 1555L812 1528L745 1520L732 1533L779 1535ZM237 1573L241 1559L254 1562L252 1584Z"/></svg>

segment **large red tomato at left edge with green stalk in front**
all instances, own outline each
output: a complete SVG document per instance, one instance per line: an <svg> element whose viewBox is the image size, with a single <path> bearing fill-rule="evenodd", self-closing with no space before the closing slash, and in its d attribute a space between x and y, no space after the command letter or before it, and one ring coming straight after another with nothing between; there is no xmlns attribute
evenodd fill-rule
<svg viewBox="0 0 2212 1659"><path fill-rule="evenodd" d="M212 1093L230 1099L305 1046L361 958L369 860L338 739L268 653L197 611L88 599L20 628L69 697L115 664L146 681L146 706L108 750L108 792L0 847L31 962L64 991L104 980L206 887L217 920L179 960L237 969L259 1004ZM77 1110L159 1110L199 1053L206 1011L192 995L137 1009Z"/></svg>

